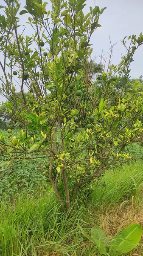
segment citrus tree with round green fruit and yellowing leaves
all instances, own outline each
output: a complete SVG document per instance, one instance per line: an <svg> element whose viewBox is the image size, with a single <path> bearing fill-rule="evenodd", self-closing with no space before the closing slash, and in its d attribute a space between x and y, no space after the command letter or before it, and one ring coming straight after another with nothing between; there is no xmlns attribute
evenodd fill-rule
<svg viewBox="0 0 143 256"><path fill-rule="evenodd" d="M140 83L135 81L126 93L116 89L121 77L127 83L143 36L129 37L130 47L121 63L103 72L97 87L89 87L84 64L105 8L90 7L84 15L86 0L50 1L51 12L42 0L26 0L21 11L18 0L4 0L1 94L8 98L8 116L22 130L17 137L10 129L8 138L0 134L0 154L5 159L0 165L4 172L15 160L39 164L62 208L69 209L75 191L95 186L109 166L129 158L123 153L126 145L143 139ZM19 32L19 12L29 16L31 37Z"/></svg>

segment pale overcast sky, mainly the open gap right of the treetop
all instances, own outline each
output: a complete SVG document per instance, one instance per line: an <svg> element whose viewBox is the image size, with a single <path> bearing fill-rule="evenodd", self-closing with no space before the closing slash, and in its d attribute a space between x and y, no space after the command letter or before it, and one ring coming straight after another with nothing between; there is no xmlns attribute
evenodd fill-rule
<svg viewBox="0 0 143 256"><path fill-rule="evenodd" d="M47 9L51 9L50 1L48 2ZM44 2L44 1L43 1ZM91 40L93 44L93 57L98 56L101 51L109 51L109 36L112 44L115 44L112 64L118 64L121 60L121 54L125 53L125 49L121 44L121 40L125 36L132 34L139 35L143 33L143 0L87 0L87 6L84 7L84 13L89 12L90 6L96 6L100 8L107 7L100 17L99 23L101 28L98 28ZM25 6L25 0L20 0L21 9ZM0 0L0 4L4 5L3 0ZM3 10L0 9L0 13ZM26 24L28 15L20 16L20 24ZM32 29L29 27L25 30L26 35L31 35ZM1 73L1 71L0 71ZM131 77L139 78L143 75L143 46L135 53L135 61L131 65ZM2 100L2 97L0 97Z"/></svg>

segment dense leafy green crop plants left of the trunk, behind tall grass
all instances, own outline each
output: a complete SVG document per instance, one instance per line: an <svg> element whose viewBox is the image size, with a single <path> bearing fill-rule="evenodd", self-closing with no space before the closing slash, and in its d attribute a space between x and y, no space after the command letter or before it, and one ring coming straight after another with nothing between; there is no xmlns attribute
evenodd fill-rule
<svg viewBox="0 0 143 256"><path fill-rule="evenodd" d="M1 159L2 160L2 159ZM14 163L8 172L0 179L0 199L7 201L9 197L22 193L39 192L46 189L48 180L38 166L30 161Z"/></svg>

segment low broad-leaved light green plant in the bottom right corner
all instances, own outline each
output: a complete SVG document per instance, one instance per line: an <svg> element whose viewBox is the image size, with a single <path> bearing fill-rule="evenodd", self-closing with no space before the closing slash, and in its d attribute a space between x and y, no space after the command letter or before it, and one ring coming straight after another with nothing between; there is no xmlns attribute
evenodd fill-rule
<svg viewBox="0 0 143 256"><path fill-rule="evenodd" d="M93 227L91 229L91 236L80 225L79 228L82 234L95 244L100 255L107 255L109 253L109 255L114 256L129 253L137 247L142 236L142 227L136 223L126 227L119 236L115 236L113 241L104 235L100 227Z"/></svg>

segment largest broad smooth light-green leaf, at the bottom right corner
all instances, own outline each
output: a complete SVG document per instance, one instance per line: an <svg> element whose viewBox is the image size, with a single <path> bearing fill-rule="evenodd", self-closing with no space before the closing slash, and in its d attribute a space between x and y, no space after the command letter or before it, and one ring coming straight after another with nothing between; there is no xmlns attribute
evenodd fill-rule
<svg viewBox="0 0 143 256"><path fill-rule="evenodd" d="M128 253L137 246L141 236L141 225L133 223L126 227L115 241L112 242L110 249L120 253Z"/></svg>

